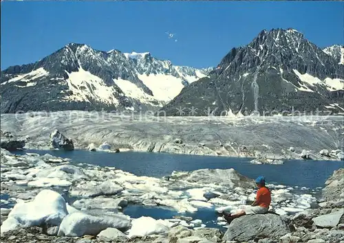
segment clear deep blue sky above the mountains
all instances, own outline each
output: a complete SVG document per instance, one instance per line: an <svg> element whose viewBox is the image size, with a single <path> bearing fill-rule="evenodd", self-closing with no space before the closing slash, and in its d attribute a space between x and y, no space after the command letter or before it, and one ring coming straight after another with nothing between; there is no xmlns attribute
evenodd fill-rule
<svg viewBox="0 0 344 243"><path fill-rule="evenodd" d="M150 51L175 65L217 65L261 30L292 27L325 47L343 44L344 2L1 2L1 70L35 62L67 43ZM165 32L176 33L175 42Z"/></svg>

